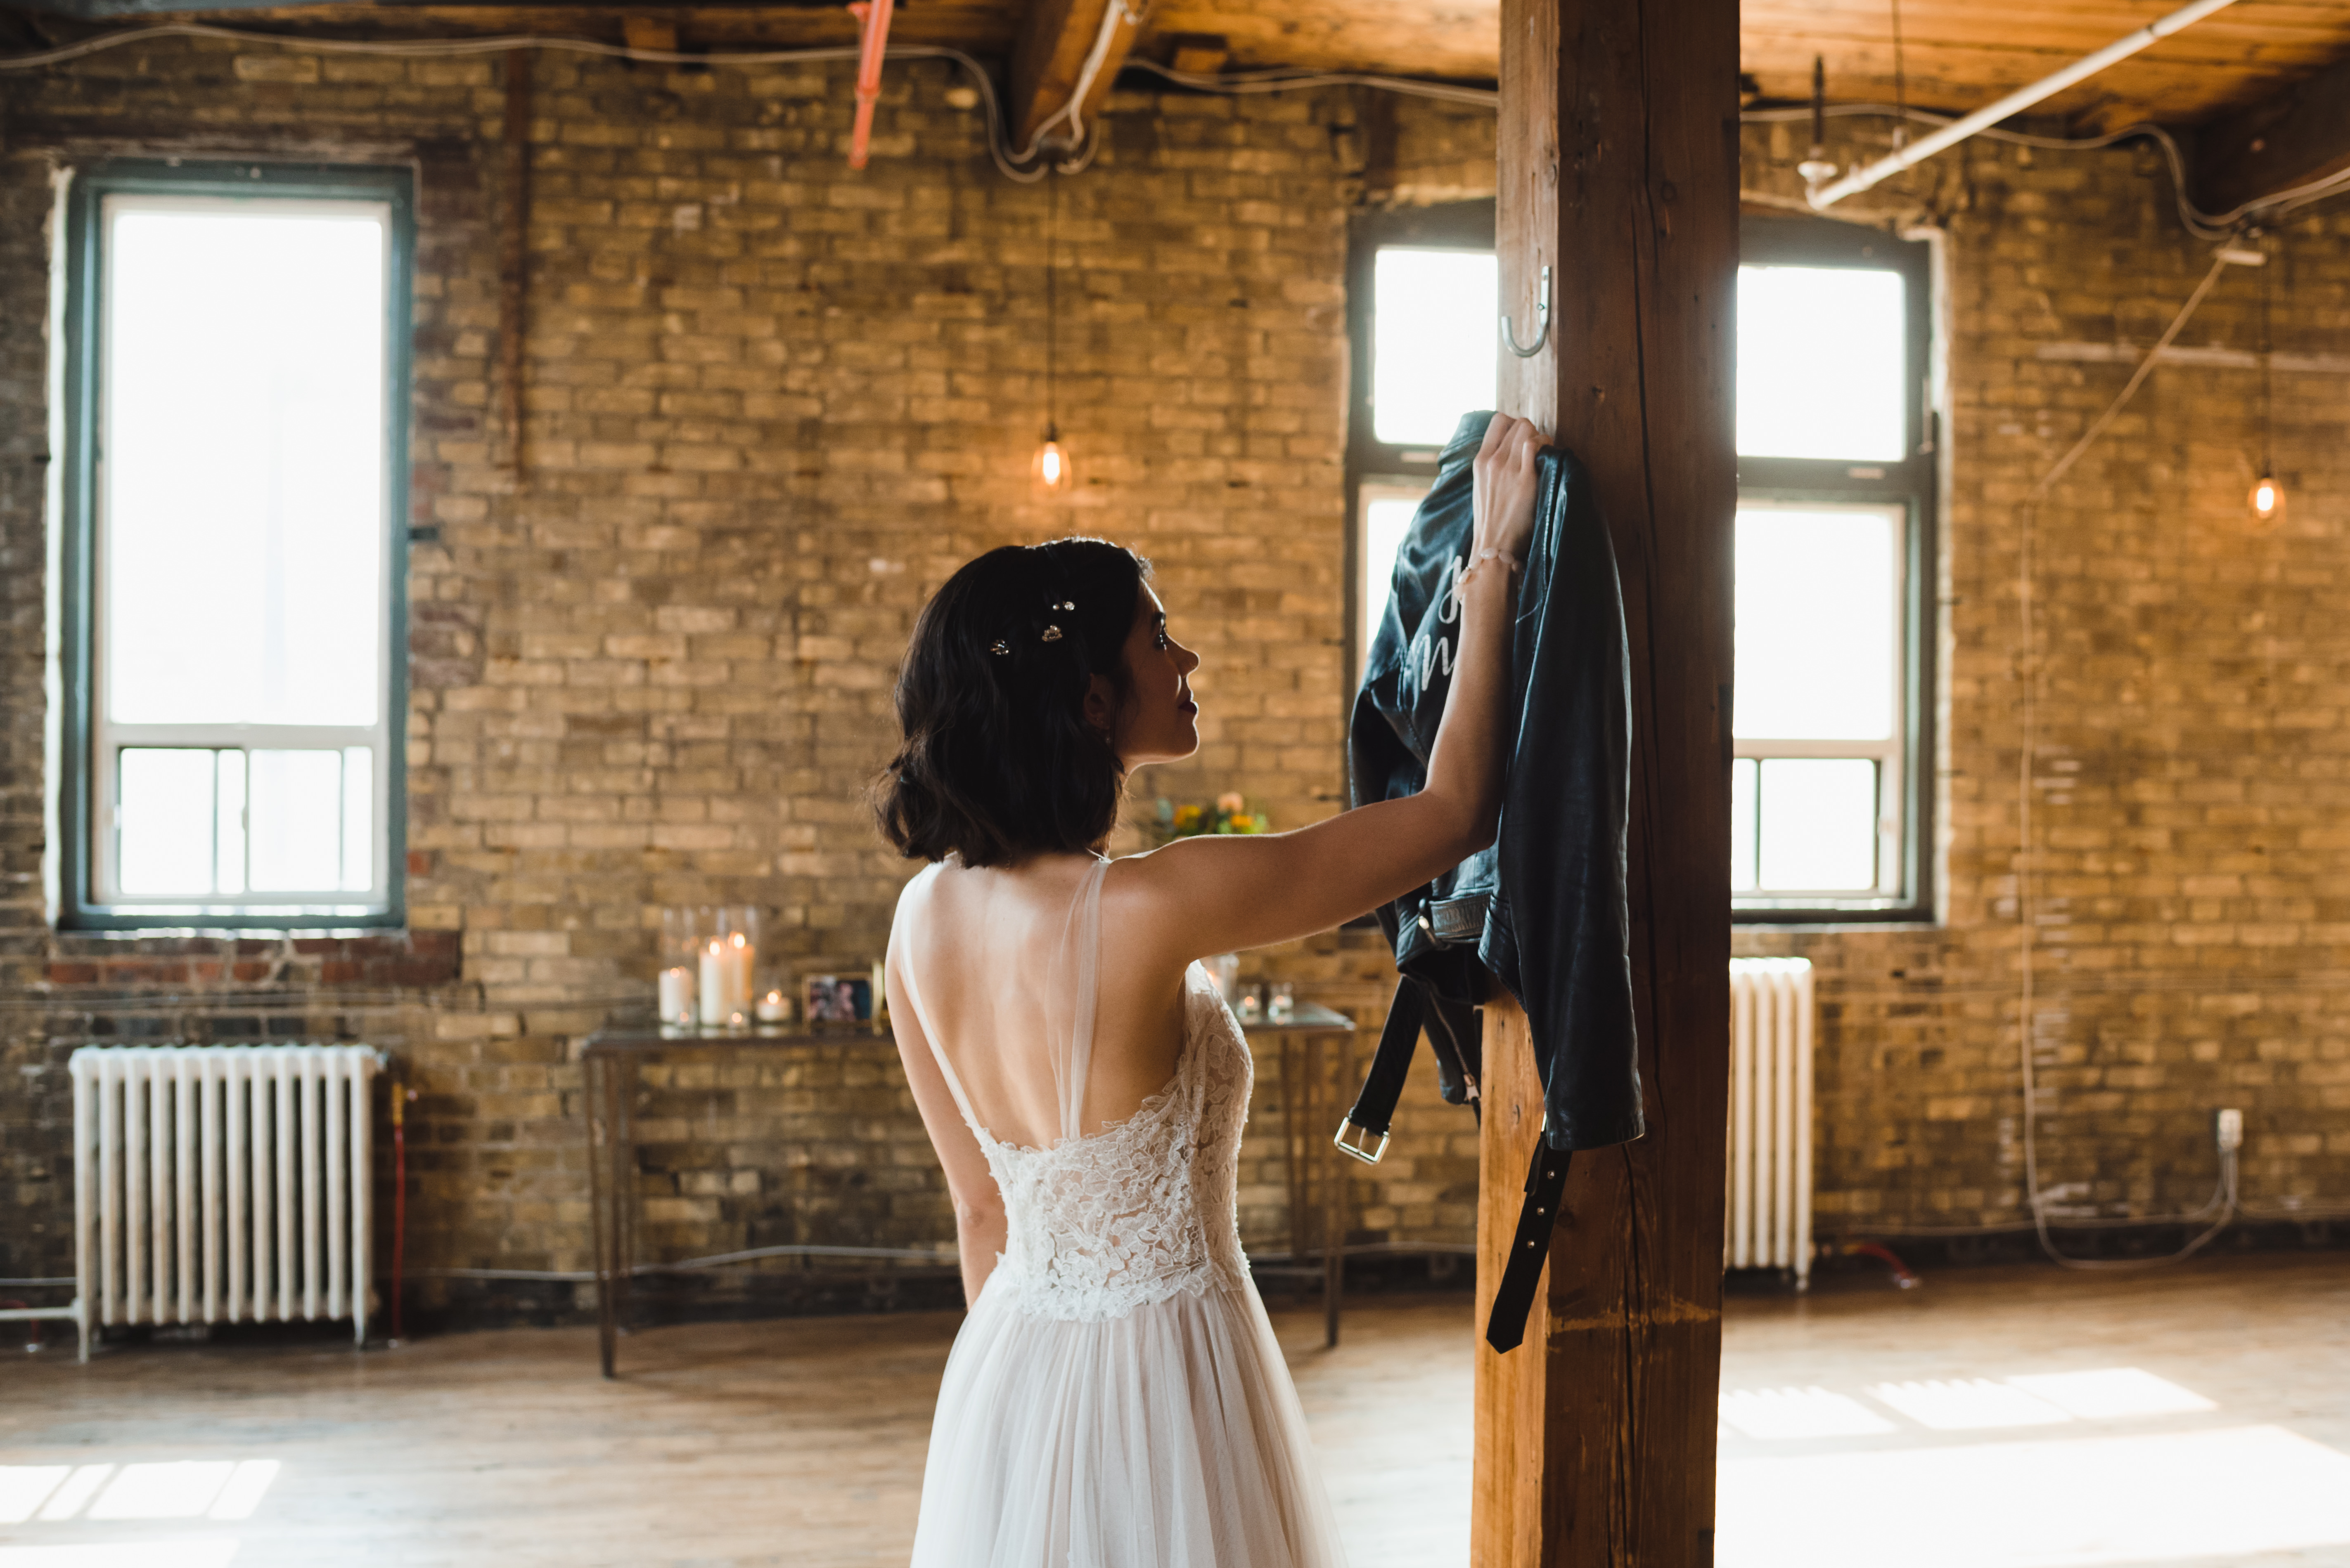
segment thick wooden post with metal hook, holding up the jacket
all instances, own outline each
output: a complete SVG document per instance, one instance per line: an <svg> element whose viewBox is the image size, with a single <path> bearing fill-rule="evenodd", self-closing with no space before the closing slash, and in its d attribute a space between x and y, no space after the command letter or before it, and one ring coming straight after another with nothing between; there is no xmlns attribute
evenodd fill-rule
<svg viewBox="0 0 2350 1568"><path fill-rule="evenodd" d="M1478 1568L1704 1568L1720 1397L1737 460L1734 0L1502 0L1502 408L1598 488L1631 634L1631 967L1647 1136L1574 1155L1525 1343L1478 1340ZM1478 1300L1542 1131L1488 1009ZM1483 1331L1483 1314L1478 1322Z"/></svg>

